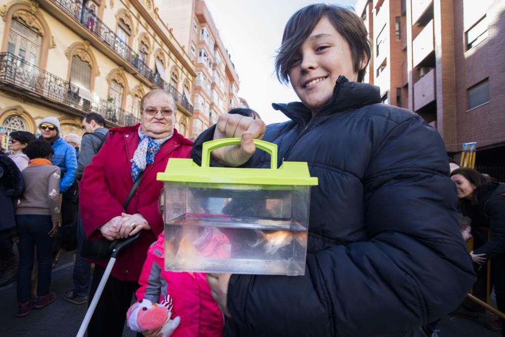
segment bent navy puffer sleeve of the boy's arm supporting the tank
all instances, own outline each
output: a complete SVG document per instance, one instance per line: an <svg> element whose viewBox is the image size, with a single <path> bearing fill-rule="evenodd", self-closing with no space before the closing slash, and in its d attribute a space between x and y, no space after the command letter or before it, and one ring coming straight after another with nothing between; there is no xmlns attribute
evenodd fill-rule
<svg viewBox="0 0 505 337"><path fill-rule="evenodd" d="M369 239L308 254L304 276L232 275L233 324L258 335L382 335L464 299L475 277L440 136L418 116L372 136L363 177Z"/></svg>

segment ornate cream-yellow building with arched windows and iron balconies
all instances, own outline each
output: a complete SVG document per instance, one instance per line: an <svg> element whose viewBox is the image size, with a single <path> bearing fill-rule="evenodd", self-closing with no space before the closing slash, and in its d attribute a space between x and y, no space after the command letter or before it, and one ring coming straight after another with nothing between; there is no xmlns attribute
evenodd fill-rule
<svg viewBox="0 0 505 337"><path fill-rule="evenodd" d="M37 133L57 116L82 134L83 116L108 126L138 122L152 88L173 93L177 130L190 136L196 73L192 57L153 0L0 0L0 126Z"/></svg>

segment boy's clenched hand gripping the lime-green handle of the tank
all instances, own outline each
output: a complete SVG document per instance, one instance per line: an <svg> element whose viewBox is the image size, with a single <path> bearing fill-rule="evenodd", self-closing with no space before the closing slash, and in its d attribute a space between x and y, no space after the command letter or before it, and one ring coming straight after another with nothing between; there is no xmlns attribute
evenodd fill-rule
<svg viewBox="0 0 505 337"><path fill-rule="evenodd" d="M224 165L240 166L256 151L253 139L261 139L265 134L265 123L261 119L252 119L242 115L219 115L214 139L242 138L240 145L219 148L212 156Z"/></svg>

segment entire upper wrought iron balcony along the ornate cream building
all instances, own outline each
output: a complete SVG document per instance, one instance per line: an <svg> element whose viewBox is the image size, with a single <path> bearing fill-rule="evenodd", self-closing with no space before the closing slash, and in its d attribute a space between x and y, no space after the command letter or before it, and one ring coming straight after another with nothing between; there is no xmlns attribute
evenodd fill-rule
<svg viewBox="0 0 505 337"><path fill-rule="evenodd" d="M85 6L82 6L81 1L52 1L65 11L65 13L74 18L78 24L84 26L92 32L93 35L95 35L100 41L109 45L117 55L137 69L140 75L146 78L149 82L171 92L174 95L175 101L187 109L190 115L193 114L193 106L189 104L184 95L175 90L171 84L166 83L159 76L156 76L153 70L149 69L143 60L139 58L138 54L136 54L126 42L121 40L111 28L104 24L102 20L98 19L94 12L90 11Z"/></svg>

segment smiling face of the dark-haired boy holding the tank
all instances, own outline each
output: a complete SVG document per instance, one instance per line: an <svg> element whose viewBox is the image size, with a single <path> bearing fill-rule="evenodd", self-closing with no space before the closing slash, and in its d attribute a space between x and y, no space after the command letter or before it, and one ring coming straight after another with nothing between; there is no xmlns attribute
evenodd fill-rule
<svg viewBox="0 0 505 337"><path fill-rule="evenodd" d="M298 98L313 115L331 99L339 75L358 80L347 41L326 17L300 46L288 75Z"/></svg>

